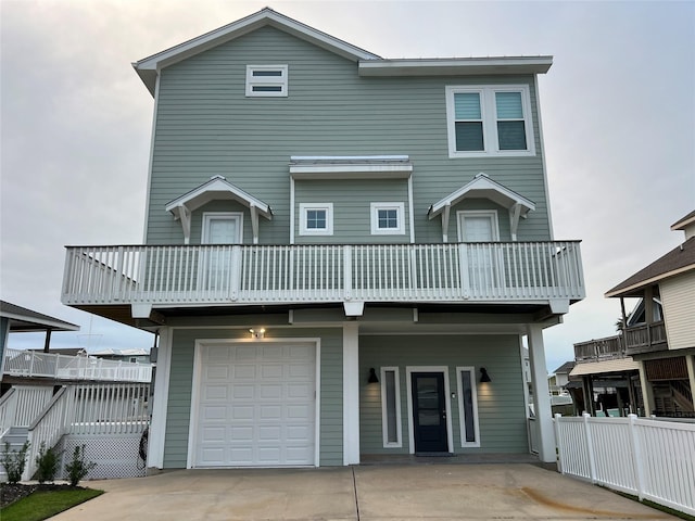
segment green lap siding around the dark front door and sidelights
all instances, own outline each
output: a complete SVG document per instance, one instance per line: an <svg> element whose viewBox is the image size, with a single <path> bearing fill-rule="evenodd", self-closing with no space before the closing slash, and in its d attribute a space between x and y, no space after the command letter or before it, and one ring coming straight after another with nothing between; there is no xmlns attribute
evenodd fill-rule
<svg viewBox="0 0 695 521"><path fill-rule="evenodd" d="M368 384L369 368L399 368L403 446L384 448L379 384ZM458 396L456 367L476 369L480 447L462 447L458 398L451 399L453 447L455 453L528 453L523 374L517 335L363 335L359 338L359 442L362 454L407 454L408 366L447 366L450 393ZM492 382L478 382L480 367L488 369Z"/></svg>

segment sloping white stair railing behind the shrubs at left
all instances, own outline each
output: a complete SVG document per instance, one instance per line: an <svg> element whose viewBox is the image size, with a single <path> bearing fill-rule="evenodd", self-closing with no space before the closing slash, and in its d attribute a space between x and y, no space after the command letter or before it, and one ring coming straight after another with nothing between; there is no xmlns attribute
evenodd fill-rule
<svg viewBox="0 0 695 521"><path fill-rule="evenodd" d="M27 453L26 468L24 474L22 474L23 480L30 480L36 472L36 456L39 454L41 445L45 444L47 448L53 447L61 436L68 431L75 415L74 398L74 387L61 387L43 411L29 425L27 437L29 450Z"/></svg>

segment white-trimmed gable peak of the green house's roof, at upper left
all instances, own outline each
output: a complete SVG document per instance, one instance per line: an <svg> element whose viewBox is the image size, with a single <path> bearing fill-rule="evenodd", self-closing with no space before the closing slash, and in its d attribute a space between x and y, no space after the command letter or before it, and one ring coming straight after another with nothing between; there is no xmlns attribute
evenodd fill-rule
<svg viewBox="0 0 695 521"><path fill-rule="evenodd" d="M261 11L232 22L231 24L227 24L223 27L211 30L210 33L205 33L204 35L185 41L184 43L172 47L170 49L142 59L134 63L132 66L142 79L142 82L144 82L152 96L154 96L156 75L162 68L265 26L283 30L285 33L306 40L354 62L379 58L364 49L280 14L270 8L264 8Z"/></svg>

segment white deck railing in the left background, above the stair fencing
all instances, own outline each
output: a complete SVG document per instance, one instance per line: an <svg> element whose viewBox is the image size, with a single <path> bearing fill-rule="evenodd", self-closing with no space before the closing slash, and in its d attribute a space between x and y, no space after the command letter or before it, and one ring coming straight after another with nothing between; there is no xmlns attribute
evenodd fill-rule
<svg viewBox="0 0 695 521"><path fill-rule="evenodd" d="M99 380L110 382L149 382L150 364L105 360L87 355L60 355L41 351L4 350L4 373L13 377L40 377L58 380Z"/></svg>

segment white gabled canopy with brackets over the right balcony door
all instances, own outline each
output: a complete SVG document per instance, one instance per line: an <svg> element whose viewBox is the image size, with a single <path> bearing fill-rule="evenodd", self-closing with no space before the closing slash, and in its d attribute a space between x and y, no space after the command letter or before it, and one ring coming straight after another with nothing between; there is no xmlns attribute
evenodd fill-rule
<svg viewBox="0 0 695 521"><path fill-rule="evenodd" d="M470 182L467 182L458 190L438 201L428 211L427 215L433 219L438 215L442 216L442 241L448 242L448 215L451 207L462 202L464 199L488 199L509 211L509 223L511 226L511 240L517 240L517 228L519 218L526 218L528 213L535 209L535 204L519 195L513 190L493 181L486 174L480 173Z"/></svg>

